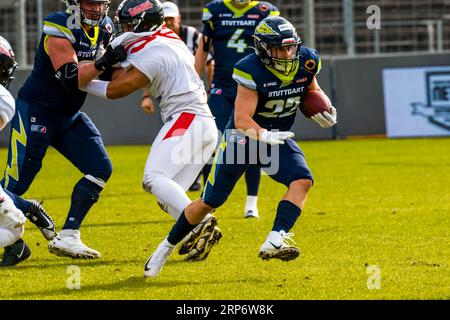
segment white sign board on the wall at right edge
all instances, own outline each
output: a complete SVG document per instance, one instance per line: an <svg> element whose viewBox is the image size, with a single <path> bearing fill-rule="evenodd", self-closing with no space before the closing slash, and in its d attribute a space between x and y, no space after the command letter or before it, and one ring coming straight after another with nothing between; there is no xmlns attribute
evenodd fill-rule
<svg viewBox="0 0 450 320"><path fill-rule="evenodd" d="M450 66L383 70L388 137L450 136Z"/></svg>

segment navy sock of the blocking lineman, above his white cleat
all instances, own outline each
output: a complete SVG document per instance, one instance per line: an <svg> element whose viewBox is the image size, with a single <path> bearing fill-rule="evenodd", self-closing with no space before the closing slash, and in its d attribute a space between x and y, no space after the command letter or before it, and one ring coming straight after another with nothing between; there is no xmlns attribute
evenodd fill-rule
<svg viewBox="0 0 450 320"><path fill-rule="evenodd" d="M97 202L102 190L100 186L84 177L78 181L73 188L72 202L63 230L80 229L81 223L94 203Z"/></svg>

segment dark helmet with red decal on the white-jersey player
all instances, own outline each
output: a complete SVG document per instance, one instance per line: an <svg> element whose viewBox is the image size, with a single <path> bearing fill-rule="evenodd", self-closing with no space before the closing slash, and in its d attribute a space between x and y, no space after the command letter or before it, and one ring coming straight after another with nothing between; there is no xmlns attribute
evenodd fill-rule
<svg viewBox="0 0 450 320"><path fill-rule="evenodd" d="M135 33L157 29L164 23L164 10L159 0L124 0L114 17L117 33L124 32L124 26L132 26Z"/></svg>

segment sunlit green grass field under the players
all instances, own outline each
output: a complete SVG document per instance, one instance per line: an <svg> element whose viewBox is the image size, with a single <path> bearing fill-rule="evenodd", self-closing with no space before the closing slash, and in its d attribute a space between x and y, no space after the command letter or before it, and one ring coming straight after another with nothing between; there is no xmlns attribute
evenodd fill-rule
<svg viewBox="0 0 450 320"><path fill-rule="evenodd" d="M240 181L217 211L224 237L208 259L188 263L174 254L158 278L145 279L144 263L173 221L141 188L148 147L113 146L113 176L81 229L102 258L56 257L28 222L32 256L0 270L0 299L450 299L450 139L300 146L316 182L293 230L298 259L257 256L285 192L263 177L261 219L243 218ZM44 200L59 230L79 178L49 150L25 196ZM80 268L79 290L67 288L70 265ZM380 289L368 289L369 266L381 272Z"/></svg>

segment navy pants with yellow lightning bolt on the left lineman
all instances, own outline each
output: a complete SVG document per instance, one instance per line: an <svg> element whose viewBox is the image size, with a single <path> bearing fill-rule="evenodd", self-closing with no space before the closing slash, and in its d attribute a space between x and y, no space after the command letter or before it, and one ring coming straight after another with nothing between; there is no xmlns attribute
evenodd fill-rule
<svg viewBox="0 0 450 320"><path fill-rule="evenodd" d="M4 188L17 195L24 194L40 171L49 146L84 175L104 182L111 176L111 161L100 133L85 113L70 116L47 113L19 98L11 121Z"/></svg>

